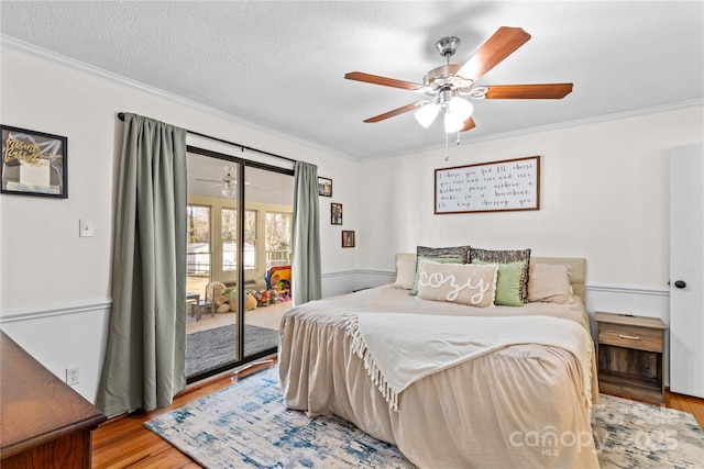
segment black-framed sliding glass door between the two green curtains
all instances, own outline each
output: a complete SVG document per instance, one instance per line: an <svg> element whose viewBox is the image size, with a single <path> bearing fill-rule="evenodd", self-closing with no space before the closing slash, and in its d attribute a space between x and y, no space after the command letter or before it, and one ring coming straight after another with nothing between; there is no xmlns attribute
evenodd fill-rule
<svg viewBox="0 0 704 469"><path fill-rule="evenodd" d="M294 178L188 153L189 382L275 353L290 308Z"/></svg>

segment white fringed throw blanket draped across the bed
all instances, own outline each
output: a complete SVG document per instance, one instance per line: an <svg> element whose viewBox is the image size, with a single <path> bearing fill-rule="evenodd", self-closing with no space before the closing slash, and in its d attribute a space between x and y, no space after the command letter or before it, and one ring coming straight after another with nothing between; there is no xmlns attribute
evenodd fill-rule
<svg viewBox="0 0 704 469"><path fill-rule="evenodd" d="M352 353L394 411L414 382L492 350L539 344L570 351L592 402L592 338L573 321L549 316L470 317L404 313L345 314Z"/></svg>

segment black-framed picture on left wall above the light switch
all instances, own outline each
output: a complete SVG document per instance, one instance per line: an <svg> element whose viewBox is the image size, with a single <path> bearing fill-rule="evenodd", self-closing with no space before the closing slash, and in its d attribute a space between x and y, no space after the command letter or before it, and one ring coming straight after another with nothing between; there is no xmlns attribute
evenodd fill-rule
<svg viewBox="0 0 704 469"><path fill-rule="evenodd" d="M68 197L68 138L0 125L2 193Z"/></svg>

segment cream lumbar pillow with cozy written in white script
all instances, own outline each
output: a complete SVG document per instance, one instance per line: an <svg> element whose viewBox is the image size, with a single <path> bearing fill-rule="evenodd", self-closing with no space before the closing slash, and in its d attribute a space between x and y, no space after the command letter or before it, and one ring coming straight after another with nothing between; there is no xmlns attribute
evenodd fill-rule
<svg viewBox="0 0 704 469"><path fill-rule="evenodd" d="M422 259L418 265L418 298L470 306L493 306L496 264L442 264Z"/></svg>

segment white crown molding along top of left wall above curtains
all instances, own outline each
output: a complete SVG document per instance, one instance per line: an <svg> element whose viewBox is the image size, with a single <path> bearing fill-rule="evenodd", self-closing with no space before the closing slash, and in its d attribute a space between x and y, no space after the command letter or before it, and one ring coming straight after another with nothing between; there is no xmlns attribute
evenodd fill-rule
<svg viewBox="0 0 704 469"><path fill-rule="evenodd" d="M216 118L219 118L219 119L232 122L232 123L237 123L239 125L244 125L244 126L248 126L248 127L261 131L261 132L265 132L267 134L272 134L272 135L274 135L276 137L279 137L282 139L285 139L285 141L298 144L298 145L304 145L304 146L307 146L307 147L311 147L311 148L318 149L320 152L338 156L340 158L358 160L358 158L354 158L351 155L338 152L338 150L332 149L332 148L324 147L322 145L318 145L318 144L316 144L314 142L309 142L309 141L299 138L297 136L290 135L290 134L286 134L286 133L283 133L283 132L275 131L273 129L256 124L254 122L248 121L248 120L239 118L237 115L229 114L227 112L223 112L223 111L220 111L218 109L211 108L209 105L201 104L201 103L196 102L196 101L191 101L191 100L183 98L183 97L180 97L178 94L174 94L174 93L170 93L168 91L164 91L164 90L162 90L160 88L155 88L155 87L152 87L150 85L143 83L141 81L136 81L136 80L133 80L131 78L123 77L123 76L114 74L112 71L108 71L108 70L105 70L102 68L86 64L84 62L76 60L76 59L67 57L65 55L57 54L55 52L45 49L43 47L38 47L38 46L34 45L34 44L30 44L30 43L26 43L24 41L21 41L21 40L4 35L4 34L0 34L0 44L2 44L4 46L8 46L8 47L11 47L11 48L14 48L14 49L20 51L20 52L24 52L24 53L34 55L36 57L41 57L41 58L44 58L44 59L47 59L47 60L52 60L52 62L57 63L59 65L63 65L63 66L65 66L67 68L72 68L74 70L78 70L78 71L81 71L81 72L85 72L85 74L90 74L90 75L103 78L106 80L113 81L116 83L119 83L119 85L135 89L138 91L142 91L142 92L146 92L146 93L150 93L150 94L154 94L154 96L160 97L162 99L175 102L177 104L189 107L189 108L191 108L191 109L194 109L196 111L205 112L205 113L210 114L212 116L216 116ZM118 110L118 111L124 111L124 110ZM116 111L116 112L118 112L118 111ZM127 111L129 112L129 110L127 110ZM196 131L196 130L194 129L194 131Z"/></svg>

